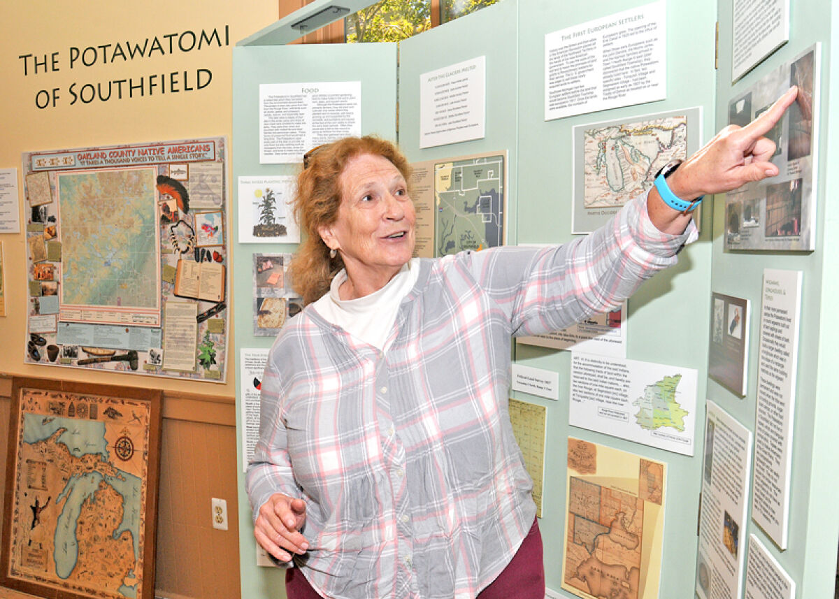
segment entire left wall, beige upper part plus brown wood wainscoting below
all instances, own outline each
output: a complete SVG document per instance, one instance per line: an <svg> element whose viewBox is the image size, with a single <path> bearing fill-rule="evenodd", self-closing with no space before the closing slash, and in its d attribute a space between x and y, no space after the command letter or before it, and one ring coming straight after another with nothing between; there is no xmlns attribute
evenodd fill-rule
<svg viewBox="0 0 839 599"><path fill-rule="evenodd" d="M18 169L19 215L25 229L21 154L52 148L77 148L232 134L232 47L278 18L277 0L147 0L115 3L65 0L56 3L0 3L0 169ZM227 29L226 29L227 28ZM102 44L142 42L167 34L217 29L227 34L221 48L175 50L152 58L102 60L70 68L70 49ZM175 37L175 40L177 37ZM222 37L222 40L224 38ZM96 49L96 53L101 53ZM52 69L55 53L55 70ZM21 55L47 55L47 65ZM91 58L93 52L88 53ZM211 70L209 86L200 91L112 98L83 104L73 101L70 86L106 83L129 77L195 73ZM39 91L58 89L55 107L35 105ZM44 95L40 97L46 97ZM228 146L229 147L229 146ZM229 159L229 157L228 157ZM228 192L231 186L228 185ZM229 195L228 195L229 197ZM230 222L230 221L228 221ZM23 364L27 313L25 235L0 234L3 242L7 315L0 317L0 377L20 375L62 378L164 391L164 424L160 475L157 584L172 599L237 599L238 571L237 460L233 331L230 331L227 383L196 383L169 378L140 378L109 372ZM232 310L229 310L232 313ZM0 378L0 482L5 488L10 380ZM211 528L210 498L227 499L230 529ZM0 496L0 510L4 497ZM0 518L2 520L2 518ZM2 522L0 522L2 526ZM3 534L0 529L0 535ZM0 589L0 597L19 596Z"/></svg>

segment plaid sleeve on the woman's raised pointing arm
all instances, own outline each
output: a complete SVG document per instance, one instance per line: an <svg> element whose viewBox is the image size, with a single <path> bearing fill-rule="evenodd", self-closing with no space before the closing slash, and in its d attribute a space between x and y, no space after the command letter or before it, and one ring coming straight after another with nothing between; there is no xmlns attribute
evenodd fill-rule
<svg viewBox="0 0 839 599"><path fill-rule="evenodd" d="M660 232L644 195L597 231L563 245L499 248L465 259L477 283L508 312L513 336L535 335L618 308L697 237L693 221L680 235Z"/></svg>

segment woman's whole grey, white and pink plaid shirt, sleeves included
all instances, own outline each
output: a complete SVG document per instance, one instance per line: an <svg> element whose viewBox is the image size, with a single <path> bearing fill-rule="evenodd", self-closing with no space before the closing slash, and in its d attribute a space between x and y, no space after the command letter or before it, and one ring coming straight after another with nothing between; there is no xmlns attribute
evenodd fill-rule
<svg viewBox="0 0 839 599"><path fill-rule="evenodd" d="M508 415L511 337L610 310L696 238L659 232L646 198L588 237L420 261L387 352L307 307L268 357L254 510L305 499L295 556L336 599L474 597L535 517Z"/></svg>

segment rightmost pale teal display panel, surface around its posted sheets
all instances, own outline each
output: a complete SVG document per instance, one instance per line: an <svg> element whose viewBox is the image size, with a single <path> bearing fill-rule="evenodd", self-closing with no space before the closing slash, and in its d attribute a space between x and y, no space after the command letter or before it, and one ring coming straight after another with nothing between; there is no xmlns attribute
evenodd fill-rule
<svg viewBox="0 0 839 599"><path fill-rule="evenodd" d="M789 576L796 581L796 596L834 596L836 580L836 531L839 515L833 497L839 490L839 435L836 421L836 359L839 357L839 333L836 304L836 135L830 135L831 121L836 121L836 93L833 81L835 55L832 34L836 29L835 4L830 2L792 2L790 4L789 42L763 60L742 79L732 84L732 0L720 0L720 68L717 76L717 128L728 121L728 105L764 76L800 55L813 44L821 44L821 72L816 83L821 95L818 118L821 127L814 132L813 150L820 165L815 185L816 250L814 252L737 252L724 248L726 214L722 197L714 205L713 270L711 285L717 292L748 298L754 305L749 353L749 393L737 398L722 385L708 380L707 397L721 405L741 423L755 430L755 388L758 383L759 315L763 298L761 285L764 268L802 272L800 346L792 437L792 470L789 494L789 541L785 551L750 522L748 533L755 534ZM836 64L836 63L833 63ZM831 94L832 91L832 94ZM831 140L831 137L834 138ZM747 555L748 560L748 555Z"/></svg>

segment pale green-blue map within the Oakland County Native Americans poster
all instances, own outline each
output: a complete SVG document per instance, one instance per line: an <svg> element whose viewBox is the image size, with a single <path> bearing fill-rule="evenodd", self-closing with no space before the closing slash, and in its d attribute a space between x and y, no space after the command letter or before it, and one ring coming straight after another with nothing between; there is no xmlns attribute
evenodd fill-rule
<svg viewBox="0 0 839 599"><path fill-rule="evenodd" d="M159 310L154 167L59 173L61 305Z"/></svg>

